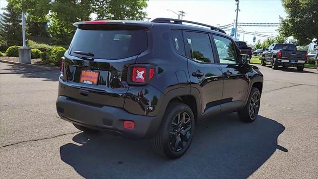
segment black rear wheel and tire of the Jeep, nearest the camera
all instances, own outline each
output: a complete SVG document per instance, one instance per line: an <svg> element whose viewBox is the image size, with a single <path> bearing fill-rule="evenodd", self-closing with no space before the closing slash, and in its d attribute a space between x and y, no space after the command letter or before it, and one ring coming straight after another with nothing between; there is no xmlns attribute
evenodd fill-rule
<svg viewBox="0 0 318 179"><path fill-rule="evenodd" d="M178 119L178 115L180 115L180 120ZM183 116L185 117L182 120ZM179 124L175 125L179 122L181 122L181 127ZM181 157L191 144L194 125L194 115L188 105L181 102L169 103L162 117L158 133L152 139L153 149L158 154L170 159Z"/></svg>

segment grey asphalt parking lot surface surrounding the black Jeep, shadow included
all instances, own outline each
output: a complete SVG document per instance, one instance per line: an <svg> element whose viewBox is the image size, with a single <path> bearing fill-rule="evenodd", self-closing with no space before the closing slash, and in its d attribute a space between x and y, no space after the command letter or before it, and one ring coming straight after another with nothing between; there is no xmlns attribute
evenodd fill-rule
<svg viewBox="0 0 318 179"><path fill-rule="evenodd" d="M316 69L260 67L258 119L198 124L188 152L167 160L150 140L84 134L60 119L59 71L0 63L0 178L318 178Z"/></svg>

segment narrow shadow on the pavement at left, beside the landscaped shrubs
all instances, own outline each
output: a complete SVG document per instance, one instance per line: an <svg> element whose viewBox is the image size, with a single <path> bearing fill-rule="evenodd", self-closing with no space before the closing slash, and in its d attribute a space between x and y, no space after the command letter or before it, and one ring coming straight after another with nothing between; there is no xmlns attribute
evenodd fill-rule
<svg viewBox="0 0 318 179"><path fill-rule="evenodd" d="M60 71L23 65L8 65L8 68L1 69L0 74L17 74L25 78L42 78L44 81L58 81Z"/></svg>

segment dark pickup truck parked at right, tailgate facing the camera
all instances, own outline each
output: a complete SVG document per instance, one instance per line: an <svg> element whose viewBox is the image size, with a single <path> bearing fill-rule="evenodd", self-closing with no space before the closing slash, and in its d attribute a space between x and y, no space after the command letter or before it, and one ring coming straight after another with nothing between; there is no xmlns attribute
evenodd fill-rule
<svg viewBox="0 0 318 179"><path fill-rule="evenodd" d="M303 71L307 60L307 51L297 50L295 44L274 43L263 52L262 66L266 63L272 65L272 69L277 70L278 66L296 66L297 71Z"/></svg>

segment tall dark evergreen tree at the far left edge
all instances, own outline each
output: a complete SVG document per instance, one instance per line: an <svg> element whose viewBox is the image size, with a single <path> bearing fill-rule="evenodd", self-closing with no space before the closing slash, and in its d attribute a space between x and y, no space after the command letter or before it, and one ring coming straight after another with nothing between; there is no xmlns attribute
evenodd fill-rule
<svg viewBox="0 0 318 179"><path fill-rule="evenodd" d="M22 45L21 10L13 9L10 3L3 10L3 13L0 14L2 41L6 42L7 46Z"/></svg>

